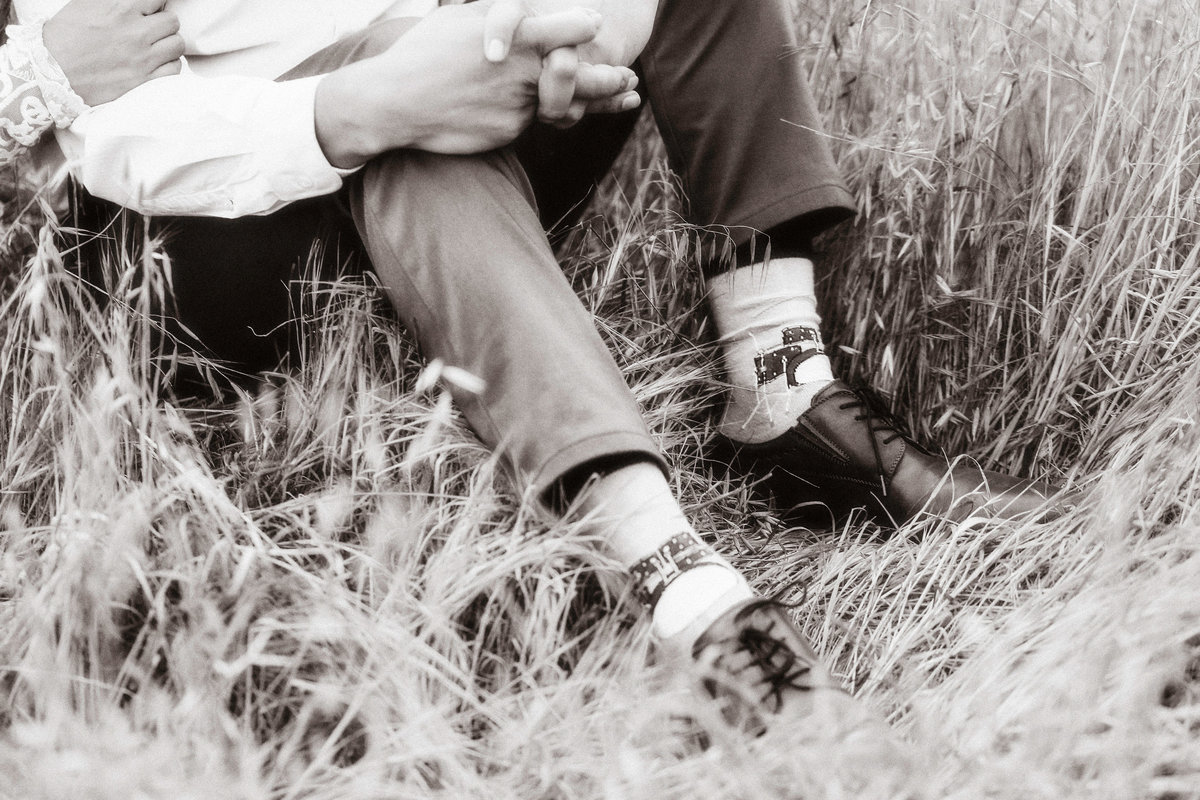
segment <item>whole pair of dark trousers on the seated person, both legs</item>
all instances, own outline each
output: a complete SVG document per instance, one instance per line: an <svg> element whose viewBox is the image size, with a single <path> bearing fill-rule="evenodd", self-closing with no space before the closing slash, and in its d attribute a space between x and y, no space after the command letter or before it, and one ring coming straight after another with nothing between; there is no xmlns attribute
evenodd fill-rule
<svg viewBox="0 0 1200 800"><path fill-rule="evenodd" d="M365 58L410 24L376 25L283 79ZM662 0L640 70L690 222L721 225L737 243L852 209L818 133L787 0ZM582 203L632 119L535 127L514 148L478 156L390 152L348 181L348 196L268 217L164 219L174 313L216 356L274 366L287 344L278 333L287 283L314 234L344 222L337 209L348 199L356 235L422 354L484 379L482 392L456 401L522 486L540 492L618 456L661 463L544 228Z"/></svg>

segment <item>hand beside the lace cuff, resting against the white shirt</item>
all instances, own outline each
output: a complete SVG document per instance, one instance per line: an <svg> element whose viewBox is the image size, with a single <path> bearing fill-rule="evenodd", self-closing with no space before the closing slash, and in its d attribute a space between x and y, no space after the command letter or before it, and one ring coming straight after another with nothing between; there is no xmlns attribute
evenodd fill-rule
<svg viewBox="0 0 1200 800"><path fill-rule="evenodd" d="M42 28L42 41L71 89L89 106L116 100L151 78L178 74L179 19L166 0L71 0Z"/></svg>

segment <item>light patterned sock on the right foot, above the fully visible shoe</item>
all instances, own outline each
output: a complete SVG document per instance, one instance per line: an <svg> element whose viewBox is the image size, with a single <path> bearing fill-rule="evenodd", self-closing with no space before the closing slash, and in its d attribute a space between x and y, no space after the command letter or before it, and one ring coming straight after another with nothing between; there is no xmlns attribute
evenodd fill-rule
<svg viewBox="0 0 1200 800"><path fill-rule="evenodd" d="M806 258L776 258L708 282L728 403L719 429L736 441L774 439L833 380Z"/></svg>

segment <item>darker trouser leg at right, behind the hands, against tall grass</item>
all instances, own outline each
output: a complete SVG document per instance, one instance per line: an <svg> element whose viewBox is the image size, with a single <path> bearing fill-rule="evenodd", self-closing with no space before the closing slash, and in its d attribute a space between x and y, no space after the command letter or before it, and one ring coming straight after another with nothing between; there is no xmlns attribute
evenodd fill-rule
<svg viewBox="0 0 1200 800"><path fill-rule="evenodd" d="M788 0L661 0L640 64L690 222L740 243L853 212L800 53Z"/></svg>

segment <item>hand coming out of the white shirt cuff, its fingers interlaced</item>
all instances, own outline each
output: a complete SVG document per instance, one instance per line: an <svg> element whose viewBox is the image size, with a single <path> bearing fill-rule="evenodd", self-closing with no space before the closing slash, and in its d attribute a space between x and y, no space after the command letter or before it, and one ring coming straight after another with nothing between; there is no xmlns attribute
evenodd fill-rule
<svg viewBox="0 0 1200 800"><path fill-rule="evenodd" d="M444 6L383 54L326 76L317 90L317 138L336 167L355 167L398 148L472 154L509 144L533 120L539 86L581 83L556 56L590 42L599 16L581 8L526 19L500 64L484 55L487 6ZM596 67L586 90L624 85L631 73Z"/></svg>

